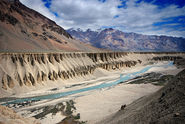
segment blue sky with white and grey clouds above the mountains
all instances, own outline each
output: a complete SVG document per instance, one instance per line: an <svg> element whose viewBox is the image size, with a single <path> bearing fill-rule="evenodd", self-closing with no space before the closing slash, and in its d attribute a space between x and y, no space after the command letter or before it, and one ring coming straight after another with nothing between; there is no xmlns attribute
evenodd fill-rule
<svg viewBox="0 0 185 124"><path fill-rule="evenodd" d="M20 0L65 29L185 37L185 0Z"/></svg>

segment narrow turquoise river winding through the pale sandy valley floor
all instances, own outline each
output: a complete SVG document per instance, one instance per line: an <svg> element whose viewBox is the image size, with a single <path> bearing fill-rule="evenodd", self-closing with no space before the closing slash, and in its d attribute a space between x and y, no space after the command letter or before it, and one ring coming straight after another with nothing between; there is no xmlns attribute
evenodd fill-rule
<svg viewBox="0 0 185 124"><path fill-rule="evenodd" d="M40 100L45 100L45 99L57 99L57 98L61 98L61 97L65 97L65 96L69 96L69 95L73 95L73 94L77 94L77 93L82 93L82 92L86 92L86 91L91 91L91 90L96 90L96 89L102 89L102 88L108 88L114 85L117 85L119 83L122 82L126 82L130 79L133 79L145 72L147 72L149 69L154 68L154 67L170 67L173 66L173 62L168 62L166 64L161 64L161 65L148 65L146 67L144 67L143 69L141 69L140 71L137 72L133 72L133 73L128 73L125 75L120 75L120 78L114 82L110 82L110 83L102 83L102 84L98 84L95 86L90 86L90 87L86 87L86 88L82 88L82 89L78 89L78 90L72 90L72 91L67 91L67 92L60 92L60 93L55 93L55 94L49 94L49 95L43 95L43 96L35 96L35 97L28 97L28 98L17 98L14 100L10 100L7 101L5 103L3 103L2 105L8 105L8 104L17 104L17 103L25 103L25 102L31 102L31 101L40 101Z"/></svg>

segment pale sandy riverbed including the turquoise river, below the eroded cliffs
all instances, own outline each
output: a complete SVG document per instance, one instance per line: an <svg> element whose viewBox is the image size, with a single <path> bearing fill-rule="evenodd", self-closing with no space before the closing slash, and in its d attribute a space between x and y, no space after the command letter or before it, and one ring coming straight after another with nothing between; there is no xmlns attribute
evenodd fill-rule
<svg viewBox="0 0 185 124"><path fill-rule="evenodd" d="M30 117L33 116L30 110L34 108L49 106L73 99L77 108L74 113L80 113L81 120L88 121L88 123L95 123L119 110L122 104L129 104L162 87L152 84L128 84L129 80L149 72L167 73L171 71L174 71L175 74L180 70L178 70L172 62L139 66L125 71L119 71L119 73L117 71L115 74L105 74L106 76L104 77L86 81L82 84L73 84L66 87L65 90L59 89L58 87L52 88L50 92L47 92L47 95L43 95L44 92L42 91L41 95L39 95L39 92L33 92L29 93L30 96L28 97L23 95L24 97L7 98L6 100L1 100L1 104L12 107L18 113ZM32 96L33 94L34 96ZM51 118L51 116L47 115L47 117L41 119L41 121L46 123L48 120L50 123L56 123L56 120L61 121L64 117L61 114L56 114L55 116L57 116L57 119L56 117L52 116L53 118Z"/></svg>

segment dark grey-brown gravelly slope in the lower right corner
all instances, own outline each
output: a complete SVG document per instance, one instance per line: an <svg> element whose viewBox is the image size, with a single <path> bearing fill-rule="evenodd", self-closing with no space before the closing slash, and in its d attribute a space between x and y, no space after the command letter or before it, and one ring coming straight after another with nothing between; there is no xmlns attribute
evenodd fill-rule
<svg viewBox="0 0 185 124"><path fill-rule="evenodd" d="M100 124L184 124L185 70L160 91L143 97L111 115Z"/></svg>

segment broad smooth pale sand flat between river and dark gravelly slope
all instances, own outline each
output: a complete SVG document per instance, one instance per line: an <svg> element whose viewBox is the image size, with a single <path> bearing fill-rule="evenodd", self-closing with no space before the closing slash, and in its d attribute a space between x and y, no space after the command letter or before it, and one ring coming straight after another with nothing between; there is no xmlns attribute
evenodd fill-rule
<svg viewBox="0 0 185 124"><path fill-rule="evenodd" d="M81 120L93 124L118 111L122 104L129 104L160 88L152 84L120 84L111 89L103 89L78 97L75 99L75 106L81 115Z"/></svg>

